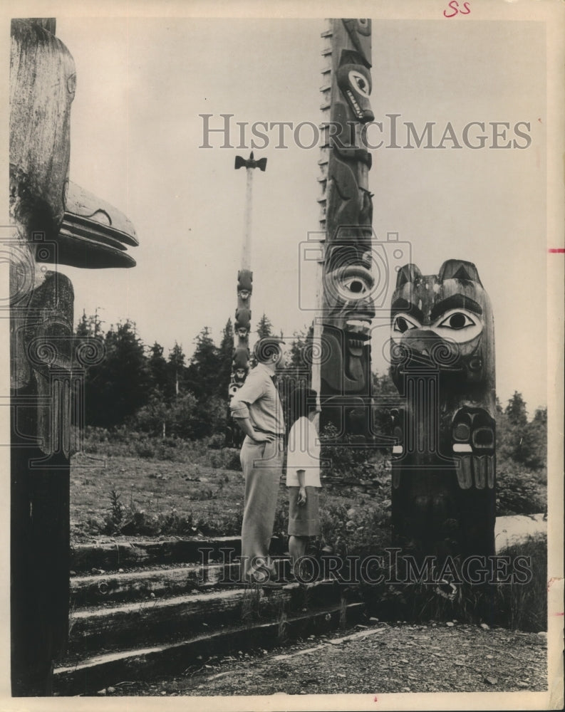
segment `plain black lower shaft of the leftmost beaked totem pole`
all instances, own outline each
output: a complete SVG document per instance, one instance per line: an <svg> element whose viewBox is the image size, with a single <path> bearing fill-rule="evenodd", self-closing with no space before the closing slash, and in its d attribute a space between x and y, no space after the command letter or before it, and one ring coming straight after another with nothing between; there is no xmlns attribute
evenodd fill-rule
<svg viewBox="0 0 565 712"><path fill-rule="evenodd" d="M12 696L51 694L53 660L68 636L69 461L12 447L11 686Z"/></svg>

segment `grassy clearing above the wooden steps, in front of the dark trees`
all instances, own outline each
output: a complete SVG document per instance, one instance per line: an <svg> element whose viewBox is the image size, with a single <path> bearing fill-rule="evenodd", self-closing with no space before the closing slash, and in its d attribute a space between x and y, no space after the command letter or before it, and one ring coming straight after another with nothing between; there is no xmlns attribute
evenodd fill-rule
<svg viewBox="0 0 565 712"><path fill-rule="evenodd" d="M141 442L141 445L140 445ZM239 535L244 480L237 451L178 441L173 459L158 459L159 444L146 439L87 440L71 461L71 538L98 535ZM152 452L153 456L136 453ZM228 468L231 466L232 468ZM367 497L368 500L368 497ZM348 511L359 495L322 488L322 511ZM286 533L288 501L279 490L275 533Z"/></svg>

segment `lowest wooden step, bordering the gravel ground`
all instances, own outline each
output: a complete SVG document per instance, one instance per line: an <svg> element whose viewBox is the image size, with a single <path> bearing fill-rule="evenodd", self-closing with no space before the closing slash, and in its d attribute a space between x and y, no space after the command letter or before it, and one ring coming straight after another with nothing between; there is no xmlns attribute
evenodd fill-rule
<svg viewBox="0 0 565 712"><path fill-rule="evenodd" d="M147 680L159 674L181 674L197 663L197 656L269 649L297 637L321 634L361 619L364 604L347 603L289 614L273 622L249 622L179 642L130 649L56 667L54 691L59 695L89 695L123 680ZM200 663L200 661L198 661Z"/></svg>

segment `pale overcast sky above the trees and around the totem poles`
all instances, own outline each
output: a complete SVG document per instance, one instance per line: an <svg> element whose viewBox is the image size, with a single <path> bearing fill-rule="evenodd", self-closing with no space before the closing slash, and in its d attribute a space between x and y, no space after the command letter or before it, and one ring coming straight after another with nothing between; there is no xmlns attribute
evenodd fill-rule
<svg viewBox="0 0 565 712"><path fill-rule="evenodd" d="M76 318L99 309L105 328L130 318L147 344L187 355L204 326L220 333L236 305L244 223L244 171L234 170L235 122L320 120L323 20L71 19L57 35L71 51L77 90L71 113L71 180L133 221L140 246L130 270L61 268L73 280ZM398 233L404 254L425 274L443 261L474 262L492 300L497 394L522 392L529 414L546 404L546 83L544 26L535 22L373 20L375 120L370 134L373 228ZM222 125L232 114L233 148L210 135L201 114ZM450 122L453 149L388 148L398 114L434 145ZM484 122L485 147L465 145L470 122ZM489 122L508 122L493 137ZM525 127L529 124L529 129ZM527 139L516 132L527 135ZM482 132L470 128L468 141ZM291 336L311 322L314 272L300 246L318 231L318 147L286 148L278 130L265 173L254 174L252 328L264 312ZM303 145L312 132L301 131ZM249 145L250 127L246 143ZM493 148L515 140L526 148ZM390 250L385 248L390 257ZM408 259L406 261L409 261ZM403 258L404 261L404 258ZM383 286L394 281L394 263ZM300 298L299 298L300 295ZM382 293L384 307L390 292ZM388 324L375 320L373 365L385 369Z"/></svg>

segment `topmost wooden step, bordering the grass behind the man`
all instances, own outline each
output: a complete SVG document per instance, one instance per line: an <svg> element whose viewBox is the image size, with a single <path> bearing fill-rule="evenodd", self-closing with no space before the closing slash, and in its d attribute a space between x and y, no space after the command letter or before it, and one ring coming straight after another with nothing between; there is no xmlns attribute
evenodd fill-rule
<svg viewBox="0 0 565 712"><path fill-rule="evenodd" d="M284 538L271 539L271 554L282 554L285 549ZM241 550L241 538L233 536L75 544L71 546L71 571L90 572L93 568L118 571L155 564L204 563L208 558L227 559L230 551L232 558L239 556Z"/></svg>

